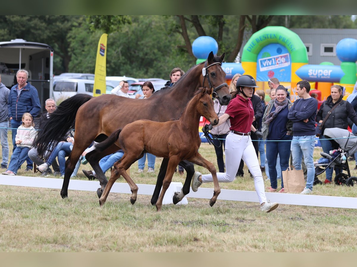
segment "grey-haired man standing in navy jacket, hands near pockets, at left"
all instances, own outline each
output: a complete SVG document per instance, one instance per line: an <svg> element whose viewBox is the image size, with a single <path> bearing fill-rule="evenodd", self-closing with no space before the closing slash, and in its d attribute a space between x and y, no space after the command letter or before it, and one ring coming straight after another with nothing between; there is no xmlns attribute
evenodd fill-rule
<svg viewBox="0 0 357 267"><path fill-rule="evenodd" d="M7 105L12 128L12 144L14 145L12 151L16 148L16 129L22 124L22 115L25 112L29 112L35 118L41 110L37 89L27 82L28 78L29 73L27 70L18 70L16 73L17 84L10 89L9 103ZM28 171L32 169L33 162L29 157L27 157L26 161L26 171Z"/></svg>

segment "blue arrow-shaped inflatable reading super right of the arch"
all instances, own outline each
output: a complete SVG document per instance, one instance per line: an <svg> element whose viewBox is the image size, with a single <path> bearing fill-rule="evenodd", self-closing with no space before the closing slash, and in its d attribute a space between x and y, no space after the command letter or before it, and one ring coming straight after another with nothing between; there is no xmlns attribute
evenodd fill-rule
<svg viewBox="0 0 357 267"><path fill-rule="evenodd" d="M304 65L295 73L310 82L339 82L345 75L340 66L332 65Z"/></svg>

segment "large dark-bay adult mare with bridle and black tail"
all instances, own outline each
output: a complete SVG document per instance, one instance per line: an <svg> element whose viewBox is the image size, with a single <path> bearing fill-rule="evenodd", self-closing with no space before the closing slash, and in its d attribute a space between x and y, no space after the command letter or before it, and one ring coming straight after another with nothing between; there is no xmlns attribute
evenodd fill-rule
<svg viewBox="0 0 357 267"><path fill-rule="evenodd" d="M222 56L214 56L211 52L207 61L193 66L172 88L157 91L148 99L130 99L108 94L93 98L89 95L79 94L63 101L51 114L35 140L37 152L39 155L44 155L46 150L49 150L52 144L56 145L69 129L75 128L74 147L66 161L61 190L62 198L68 196L70 176L82 152L91 145L92 141L104 141L112 132L140 119L177 120L199 87L213 88L213 94L220 103L228 105L231 95L228 85L225 83L226 73L221 68L224 56L224 53ZM112 145L100 153L94 150L86 155L86 159L96 172L101 185L101 188L97 190L99 197L107 184L107 178L99 167L99 160L117 150L119 147ZM167 160L164 159L163 162L167 163ZM164 163L161 165L157 178L152 204L156 203L165 177ZM183 185L184 195L190 192L193 172L192 166L190 173L187 172ZM177 203L177 200L174 201Z"/></svg>

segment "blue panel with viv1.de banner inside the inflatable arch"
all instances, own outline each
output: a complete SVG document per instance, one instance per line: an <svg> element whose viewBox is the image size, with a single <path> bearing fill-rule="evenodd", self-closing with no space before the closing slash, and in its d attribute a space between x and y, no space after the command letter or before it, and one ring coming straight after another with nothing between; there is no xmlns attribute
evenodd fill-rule
<svg viewBox="0 0 357 267"><path fill-rule="evenodd" d="M257 57L257 78L267 82L270 78L280 82L291 81L291 58L288 49L279 43L270 43L262 48Z"/></svg>

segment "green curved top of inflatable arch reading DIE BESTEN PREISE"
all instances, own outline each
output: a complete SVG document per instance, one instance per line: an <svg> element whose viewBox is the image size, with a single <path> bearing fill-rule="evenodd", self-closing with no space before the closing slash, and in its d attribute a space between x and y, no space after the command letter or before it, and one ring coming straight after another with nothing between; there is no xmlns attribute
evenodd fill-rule
<svg viewBox="0 0 357 267"><path fill-rule="evenodd" d="M257 62L261 49L270 43L285 46L290 53L291 62L308 63L306 47L300 37L282 26L268 26L254 33L243 48L242 62Z"/></svg>

